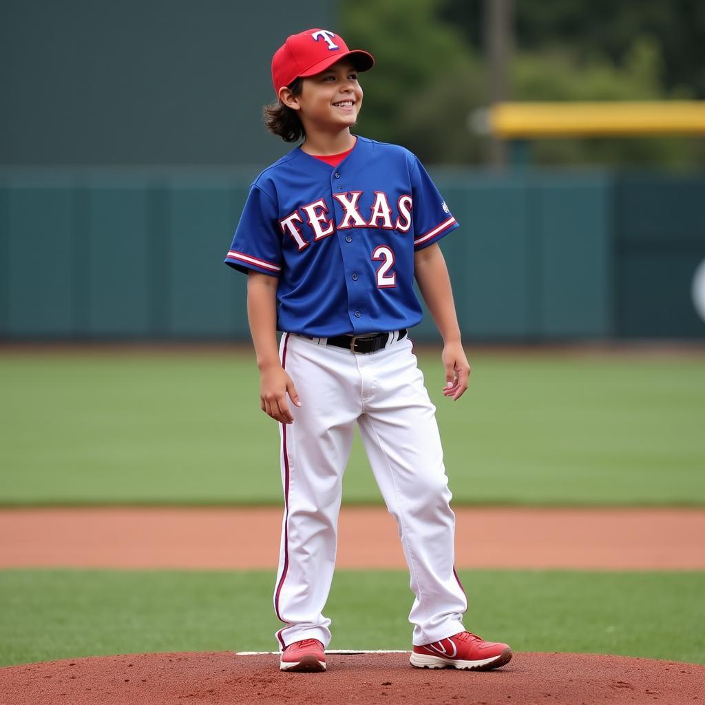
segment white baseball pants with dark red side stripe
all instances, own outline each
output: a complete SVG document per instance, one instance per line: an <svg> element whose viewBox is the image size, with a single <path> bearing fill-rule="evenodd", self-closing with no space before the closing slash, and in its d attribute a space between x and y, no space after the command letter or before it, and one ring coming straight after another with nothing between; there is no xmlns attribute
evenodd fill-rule
<svg viewBox="0 0 705 705"><path fill-rule="evenodd" d="M301 407L280 424L285 510L274 607L280 647L327 646L323 615L336 561L343 472L355 422L409 566L413 643L463 631L467 600L453 566L455 515L435 407L408 338L369 355L284 333L281 362Z"/></svg>

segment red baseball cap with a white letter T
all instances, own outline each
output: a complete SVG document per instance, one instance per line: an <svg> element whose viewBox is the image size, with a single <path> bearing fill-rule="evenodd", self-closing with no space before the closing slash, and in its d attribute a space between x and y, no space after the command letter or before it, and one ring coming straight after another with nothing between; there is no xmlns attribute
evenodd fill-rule
<svg viewBox="0 0 705 705"><path fill-rule="evenodd" d="M288 86L295 78L313 76L346 56L355 63L357 71L368 71L374 66L372 54L362 49L350 51L343 37L329 30L306 30L287 37L271 60L271 81L274 92Z"/></svg>

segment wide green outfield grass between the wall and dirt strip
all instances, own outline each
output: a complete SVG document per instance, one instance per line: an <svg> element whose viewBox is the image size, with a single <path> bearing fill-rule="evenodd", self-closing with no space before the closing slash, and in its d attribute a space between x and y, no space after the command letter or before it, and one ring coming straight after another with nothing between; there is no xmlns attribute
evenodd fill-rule
<svg viewBox="0 0 705 705"><path fill-rule="evenodd" d="M704 360L470 358L452 403L439 353L419 357L456 504L705 503ZM281 502L249 352L5 353L0 388L4 505ZM344 501L380 501L359 443Z"/></svg>

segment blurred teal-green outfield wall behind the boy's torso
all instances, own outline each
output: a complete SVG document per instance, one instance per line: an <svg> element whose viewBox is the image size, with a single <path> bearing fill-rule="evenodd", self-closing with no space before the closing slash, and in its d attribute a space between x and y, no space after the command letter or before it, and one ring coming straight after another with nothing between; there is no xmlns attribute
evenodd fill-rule
<svg viewBox="0 0 705 705"><path fill-rule="evenodd" d="M247 338L222 260L256 171L0 171L0 336ZM705 175L431 171L462 224L442 247L468 340L705 338Z"/></svg>

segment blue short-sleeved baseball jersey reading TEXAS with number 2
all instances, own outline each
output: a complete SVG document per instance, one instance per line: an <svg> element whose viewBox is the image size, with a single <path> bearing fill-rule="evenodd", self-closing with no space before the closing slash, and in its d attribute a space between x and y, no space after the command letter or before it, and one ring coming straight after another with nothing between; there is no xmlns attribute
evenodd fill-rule
<svg viewBox="0 0 705 705"><path fill-rule="evenodd" d="M395 331L422 319L415 250L457 227L414 154L357 137L337 167L297 147L259 174L225 262L278 277L278 330Z"/></svg>

